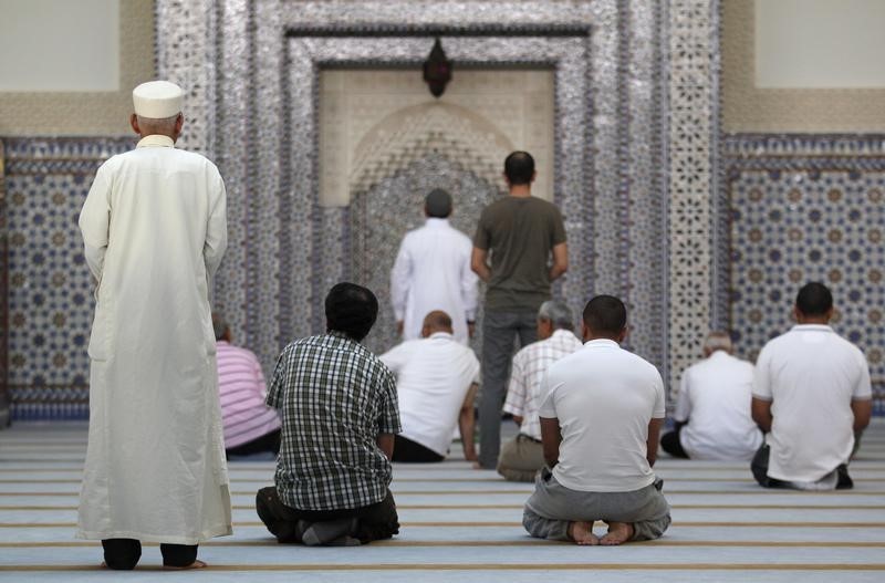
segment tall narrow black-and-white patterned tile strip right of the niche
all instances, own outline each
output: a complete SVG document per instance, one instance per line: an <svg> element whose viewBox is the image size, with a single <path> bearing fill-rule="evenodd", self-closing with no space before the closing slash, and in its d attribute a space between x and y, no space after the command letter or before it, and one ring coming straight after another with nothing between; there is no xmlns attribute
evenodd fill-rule
<svg viewBox="0 0 885 583"><path fill-rule="evenodd" d="M717 0L669 2L668 376L696 361L711 325L711 233L718 119Z"/></svg>

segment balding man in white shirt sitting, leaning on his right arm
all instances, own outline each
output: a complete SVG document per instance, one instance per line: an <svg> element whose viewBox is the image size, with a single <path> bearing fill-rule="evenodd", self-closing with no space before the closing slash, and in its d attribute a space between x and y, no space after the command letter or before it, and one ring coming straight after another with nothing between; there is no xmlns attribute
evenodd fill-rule
<svg viewBox="0 0 885 583"><path fill-rule="evenodd" d="M479 361L473 351L455 340L446 312L427 314L421 339L406 341L381 356L396 375L403 431L394 441L393 461L442 461L455 425L461 434L464 456L476 460L473 399Z"/></svg>

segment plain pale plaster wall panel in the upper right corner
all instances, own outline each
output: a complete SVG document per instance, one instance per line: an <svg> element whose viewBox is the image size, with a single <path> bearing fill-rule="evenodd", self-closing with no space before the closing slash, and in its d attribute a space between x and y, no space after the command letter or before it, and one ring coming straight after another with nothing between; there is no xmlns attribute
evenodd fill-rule
<svg viewBox="0 0 885 583"><path fill-rule="evenodd" d="M756 0L760 89L885 87L885 0Z"/></svg>

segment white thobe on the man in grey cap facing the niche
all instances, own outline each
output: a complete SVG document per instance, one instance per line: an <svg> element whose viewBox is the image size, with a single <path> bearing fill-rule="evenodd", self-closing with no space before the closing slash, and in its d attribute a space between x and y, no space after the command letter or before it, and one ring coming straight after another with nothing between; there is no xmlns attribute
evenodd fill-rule
<svg viewBox="0 0 885 583"><path fill-rule="evenodd" d="M451 316L455 339L469 342L467 321L476 317L478 282L470 269L472 248L448 219L429 218L406 233L391 272L391 299L404 340L419 339L424 316L442 310Z"/></svg>

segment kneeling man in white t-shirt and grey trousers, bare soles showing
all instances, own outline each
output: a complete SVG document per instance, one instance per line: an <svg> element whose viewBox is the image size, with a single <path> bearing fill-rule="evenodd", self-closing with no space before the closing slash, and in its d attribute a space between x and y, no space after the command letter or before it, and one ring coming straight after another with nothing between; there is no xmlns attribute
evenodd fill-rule
<svg viewBox="0 0 885 583"><path fill-rule="evenodd" d="M670 524L655 479L664 382L657 368L618 345L627 311L612 295L584 309L580 351L553 363L541 385L544 458L522 524L532 537L615 545L657 539ZM608 524L597 538L595 521Z"/></svg>

